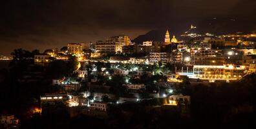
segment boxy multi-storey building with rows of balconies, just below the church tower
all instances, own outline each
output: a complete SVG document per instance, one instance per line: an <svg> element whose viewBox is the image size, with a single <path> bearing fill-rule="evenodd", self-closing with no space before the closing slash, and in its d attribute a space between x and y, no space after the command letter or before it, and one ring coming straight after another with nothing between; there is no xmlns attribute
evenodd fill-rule
<svg viewBox="0 0 256 129"><path fill-rule="evenodd" d="M170 54L167 52L151 52L149 53L149 62L157 63L157 62L163 62L167 63L171 59Z"/></svg>

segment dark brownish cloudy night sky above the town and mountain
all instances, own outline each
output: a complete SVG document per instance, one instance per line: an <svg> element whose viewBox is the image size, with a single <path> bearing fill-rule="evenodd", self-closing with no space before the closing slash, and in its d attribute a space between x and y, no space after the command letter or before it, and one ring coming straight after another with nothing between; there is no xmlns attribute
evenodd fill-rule
<svg viewBox="0 0 256 129"><path fill-rule="evenodd" d="M15 48L43 52L111 35L133 39L158 28L200 26L213 17L256 30L255 6L255 0L5 0L0 5L0 54L10 55Z"/></svg>

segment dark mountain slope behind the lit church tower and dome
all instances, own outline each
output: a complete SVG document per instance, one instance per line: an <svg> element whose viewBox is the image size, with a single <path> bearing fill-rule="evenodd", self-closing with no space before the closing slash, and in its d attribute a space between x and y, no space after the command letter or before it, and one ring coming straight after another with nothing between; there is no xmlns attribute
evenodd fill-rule
<svg viewBox="0 0 256 129"><path fill-rule="evenodd" d="M194 24L193 24L194 25ZM227 18L211 18L204 21L195 23L197 28L190 29L191 25L176 25L169 28L160 28L158 30L151 30L145 35L139 35L133 39L134 43L141 44L143 41L164 41L165 32L168 29L170 37L175 37L182 40L180 37L184 32L191 32L197 34L214 34L214 35L225 35L225 34L235 34L237 32L248 34L255 32L256 26L253 23L244 24L244 21L239 21L236 19Z"/></svg>

